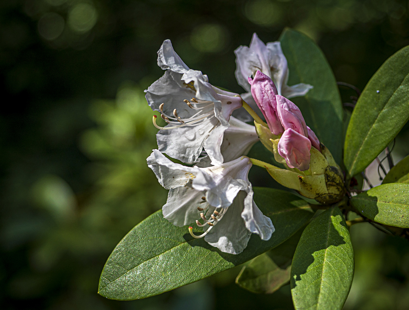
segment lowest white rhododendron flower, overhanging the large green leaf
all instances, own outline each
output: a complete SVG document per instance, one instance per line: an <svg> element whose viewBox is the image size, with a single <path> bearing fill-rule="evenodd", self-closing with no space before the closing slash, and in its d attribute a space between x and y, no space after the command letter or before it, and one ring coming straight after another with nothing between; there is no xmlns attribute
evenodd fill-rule
<svg viewBox="0 0 409 310"><path fill-rule="evenodd" d="M189 228L193 237L205 237L210 245L231 254L242 252L252 233L270 239L274 226L253 200L248 157L199 168L175 164L153 150L147 162L160 184L169 189L163 216L176 226L196 220L204 233L197 236Z"/></svg>

